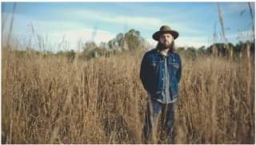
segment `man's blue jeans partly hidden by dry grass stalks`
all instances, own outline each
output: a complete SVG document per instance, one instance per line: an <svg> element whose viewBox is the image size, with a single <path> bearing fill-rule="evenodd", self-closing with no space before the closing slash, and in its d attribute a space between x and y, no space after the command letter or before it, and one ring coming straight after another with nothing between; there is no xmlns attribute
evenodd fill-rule
<svg viewBox="0 0 256 145"><path fill-rule="evenodd" d="M143 128L146 142L156 143L159 135L162 134L165 134L167 139L174 138L174 112L177 102L162 104L157 100L149 99Z"/></svg>

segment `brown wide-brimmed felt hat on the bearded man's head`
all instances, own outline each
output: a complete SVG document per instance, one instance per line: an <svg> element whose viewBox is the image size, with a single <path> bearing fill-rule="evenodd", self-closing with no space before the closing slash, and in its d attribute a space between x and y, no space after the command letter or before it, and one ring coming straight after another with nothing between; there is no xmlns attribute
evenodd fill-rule
<svg viewBox="0 0 256 145"><path fill-rule="evenodd" d="M162 33L170 33L174 37L174 39L176 39L178 37L178 32L177 31L170 29L170 26L168 26L168 25L162 25L160 30L153 34L153 39L155 41L159 41L160 35Z"/></svg>

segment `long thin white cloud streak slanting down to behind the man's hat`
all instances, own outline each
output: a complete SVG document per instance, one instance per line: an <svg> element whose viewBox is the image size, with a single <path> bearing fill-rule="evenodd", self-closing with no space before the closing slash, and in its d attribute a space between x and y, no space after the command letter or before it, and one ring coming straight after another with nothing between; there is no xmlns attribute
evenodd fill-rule
<svg viewBox="0 0 256 145"><path fill-rule="evenodd" d="M88 21L95 20L97 22L110 22L114 25L129 25L129 27L145 30L155 31L158 30L161 25L170 25L172 29L179 29L180 32L200 34L198 29L193 28L189 23L177 22L152 17L138 17L138 16L125 16L122 14L111 14L109 12L103 12L99 10L66 10L66 17L84 18ZM59 13L58 11L56 13ZM180 17L180 16L179 16ZM177 18L173 15L171 18Z"/></svg>

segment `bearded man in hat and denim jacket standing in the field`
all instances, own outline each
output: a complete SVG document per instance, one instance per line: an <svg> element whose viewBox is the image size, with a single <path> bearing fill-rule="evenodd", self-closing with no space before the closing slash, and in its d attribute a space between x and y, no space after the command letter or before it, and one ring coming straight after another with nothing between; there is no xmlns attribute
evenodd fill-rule
<svg viewBox="0 0 256 145"><path fill-rule="evenodd" d="M177 37L177 31L162 25L153 34L154 40L158 41L156 49L150 50L142 58L140 78L149 96L144 133L146 140L152 139L154 143L157 141L160 117L161 131L165 131L169 140L173 138L174 109L182 76L181 57L174 53L174 40Z"/></svg>

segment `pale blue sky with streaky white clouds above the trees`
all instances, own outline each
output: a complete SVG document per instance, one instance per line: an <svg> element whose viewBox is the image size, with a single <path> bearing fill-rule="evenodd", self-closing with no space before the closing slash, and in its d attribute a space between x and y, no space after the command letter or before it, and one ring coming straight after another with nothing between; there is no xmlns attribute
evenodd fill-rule
<svg viewBox="0 0 256 145"><path fill-rule="evenodd" d="M9 28L12 2L2 2L2 33ZM252 27L247 2L220 2L226 37L236 43L238 33L249 35ZM251 3L254 10L254 3ZM50 44L58 45L65 37L72 49L78 40L109 41L117 33L137 29L150 44L155 45L152 34L161 25L170 25L180 35L178 46L211 45L214 25L218 40L221 26L217 2L17 2L14 15L14 36L26 41L31 26ZM3 35L2 35L3 36ZM52 49L56 51L54 47Z"/></svg>

